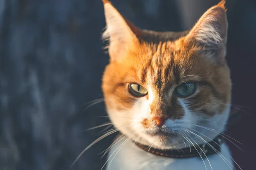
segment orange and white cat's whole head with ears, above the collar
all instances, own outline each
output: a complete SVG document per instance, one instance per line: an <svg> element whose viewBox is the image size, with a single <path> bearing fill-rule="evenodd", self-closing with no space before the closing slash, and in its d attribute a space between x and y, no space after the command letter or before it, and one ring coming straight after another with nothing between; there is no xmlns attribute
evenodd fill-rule
<svg viewBox="0 0 256 170"><path fill-rule="evenodd" d="M184 147L190 136L203 143L192 134L209 141L223 131L231 98L225 2L179 33L141 30L103 2L110 63L102 89L114 126L158 148Z"/></svg>

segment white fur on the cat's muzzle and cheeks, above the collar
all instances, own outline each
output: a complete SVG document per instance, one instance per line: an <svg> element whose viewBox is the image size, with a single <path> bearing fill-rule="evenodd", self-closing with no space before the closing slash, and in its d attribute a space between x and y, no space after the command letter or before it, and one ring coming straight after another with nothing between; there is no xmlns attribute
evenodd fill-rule
<svg viewBox="0 0 256 170"><path fill-rule="evenodd" d="M186 141L186 139L184 139L183 137L184 134L187 134L187 131L192 131L193 133L196 133L207 142L211 141L211 139L214 139L215 136L218 135L217 132L224 131L230 112L230 107L227 106L226 111L224 111L223 113L217 113L214 116L207 116L204 113L192 113L186 106L185 99L179 99L180 105L185 111L185 114L181 119L167 119L162 127L153 126L145 129L141 122L143 121L143 119L151 119L150 104L153 99L154 92L148 86L148 99L146 99L146 97L138 99L137 102L134 104L133 108L128 110L116 111L113 108L108 109L108 114L114 126L119 129L121 133L127 136L133 135L132 139L134 140L140 137L138 142L162 149L169 149L173 147L183 148L185 144L188 146L189 142ZM201 122L202 120L203 122ZM215 131L207 130L205 128L195 125L214 129ZM163 141L159 138L159 136L151 136L147 133L155 132L159 129L166 132L172 132L173 130L175 130L175 132L183 134L183 136L170 136L169 139ZM192 142L196 142L197 144L204 143L204 141L202 141L195 135L189 134L189 136L192 136Z"/></svg>

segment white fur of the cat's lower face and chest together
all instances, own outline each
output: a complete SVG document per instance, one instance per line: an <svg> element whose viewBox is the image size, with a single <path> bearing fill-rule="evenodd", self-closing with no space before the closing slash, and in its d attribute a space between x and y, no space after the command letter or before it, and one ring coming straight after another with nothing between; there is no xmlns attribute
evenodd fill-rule
<svg viewBox="0 0 256 170"><path fill-rule="evenodd" d="M215 114L215 116L206 116L204 113L192 113L186 106L185 99L178 99L180 105L185 111L185 115L181 119L172 120L167 119L162 127L151 127L145 129L141 122L143 119L150 119L149 106L154 99L154 92L148 87L148 99L142 97L138 99L134 107L125 111L116 111L114 109L108 110L110 118L122 134L131 137L134 141L146 144L151 147L165 149L165 148L184 148L192 144L184 139L184 136L168 136L168 139L163 140L159 136L150 136L146 133L146 130L154 132L157 128L161 128L164 131L180 131L180 134L185 134L185 136L194 144L204 144L205 142L199 139L196 135L192 133L186 133L186 130L201 136L205 141L209 142L218 135L215 131L210 131L201 127L193 126L198 125L201 119L204 121L207 119L203 126L222 132L224 130L225 124L228 119L230 112L230 107L227 106L227 110L223 113ZM202 125L202 124L199 124ZM190 128L198 131L192 131ZM188 159L171 159L164 158L161 156L155 156L150 153L146 153L144 150L133 146L131 139L125 141L122 139L120 142L111 148L108 156L108 165L110 165L109 170L204 170L205 166L200 157L188 158ZM127 142L124 146L123 142ZM121 146L120 146L121 144ZM119 147L120 146L120 147ZM132 147L133 146L133 147ZM131 148L131 150L130 150ZM117 155L116 155L117 153ZM233 162L231 161L230 152L225 144L222 145L222 152L226 162L231 164L227 165L225 161L215 154L214 156L209 156L209 161L212 165L213 170L228 170L233 167ZM116 156L115 156L116 155ZM114 158L112 160L112 158ZM209 163L207 159L204 159L207 169L210 170Z"/></svg>

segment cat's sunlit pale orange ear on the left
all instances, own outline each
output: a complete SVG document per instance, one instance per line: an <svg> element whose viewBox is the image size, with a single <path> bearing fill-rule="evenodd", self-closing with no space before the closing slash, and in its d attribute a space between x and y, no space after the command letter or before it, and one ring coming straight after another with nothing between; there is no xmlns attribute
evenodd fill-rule
<svg viewBox="0 0 256 170"><path fill-rule="evenodd" d="M102 34L103 40L108 40L108 53L111 61L127 56L129 51L136 50L139 40L136 32L139 29L116 10L108 0L104 3L106 30Z"/></svg>

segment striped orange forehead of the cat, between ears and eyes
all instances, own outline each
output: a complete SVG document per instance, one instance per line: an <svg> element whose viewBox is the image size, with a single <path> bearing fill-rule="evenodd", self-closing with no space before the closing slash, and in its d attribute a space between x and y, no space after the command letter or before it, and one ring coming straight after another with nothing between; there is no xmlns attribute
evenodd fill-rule
<svg viewBox="0 0 256 170"><path fill-rule="evenodd" d="M200 48L187 45L182 38L143 42L121 64L114 64L113 69L119 73L121 82L137 83L166 93L183 82L207 78L207 70L213 65L200 55Z"/></svg>

